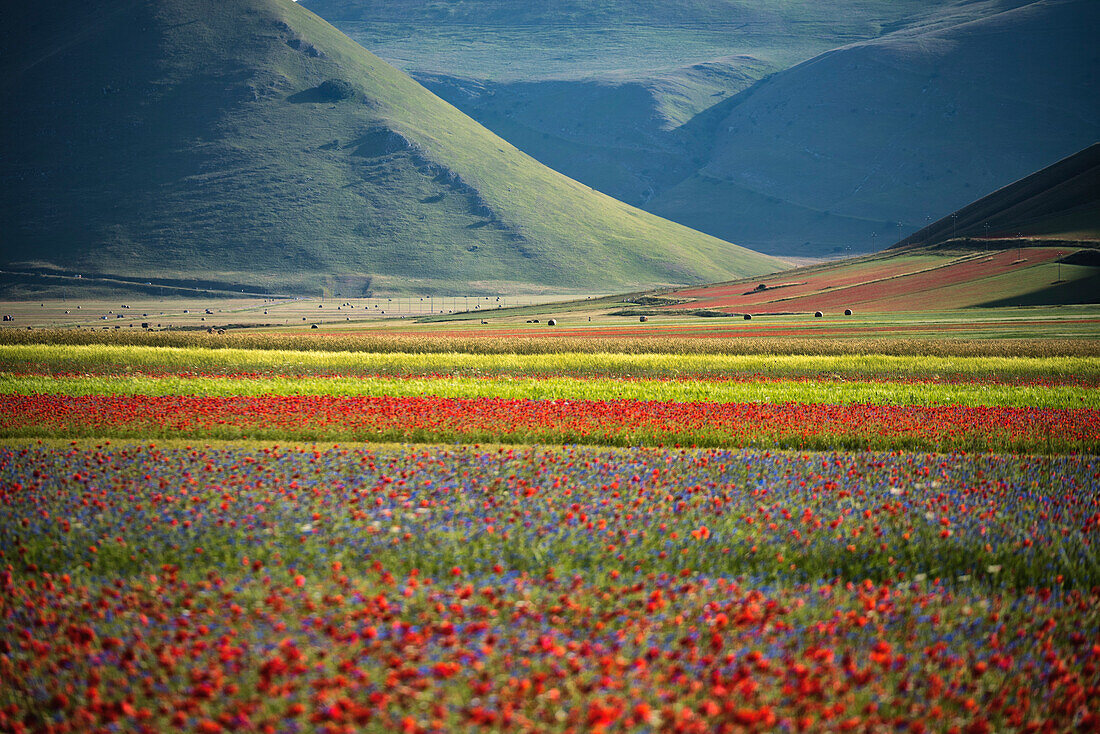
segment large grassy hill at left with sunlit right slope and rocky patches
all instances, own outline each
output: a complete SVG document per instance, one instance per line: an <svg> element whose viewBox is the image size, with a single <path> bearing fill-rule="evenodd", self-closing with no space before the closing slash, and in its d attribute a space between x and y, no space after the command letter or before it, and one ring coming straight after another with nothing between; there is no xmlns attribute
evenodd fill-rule
<svg viewBox="0 0 1100 734"><path fill-rule="evenodd" d="M351 296L782 267L550 171L290 0L6 20L7 270Z"/></svg>

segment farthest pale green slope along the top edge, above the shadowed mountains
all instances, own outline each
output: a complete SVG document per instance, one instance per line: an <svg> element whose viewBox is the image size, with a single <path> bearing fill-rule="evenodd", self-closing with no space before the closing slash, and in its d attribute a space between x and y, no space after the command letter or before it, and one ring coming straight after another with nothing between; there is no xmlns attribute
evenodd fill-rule
<svg viewBox="0 0 1100 734"><path fill-rule="evenodd" d="M645 77L752 54L784 68L958 0L304 0L407 70L493 83Z"/></svg>

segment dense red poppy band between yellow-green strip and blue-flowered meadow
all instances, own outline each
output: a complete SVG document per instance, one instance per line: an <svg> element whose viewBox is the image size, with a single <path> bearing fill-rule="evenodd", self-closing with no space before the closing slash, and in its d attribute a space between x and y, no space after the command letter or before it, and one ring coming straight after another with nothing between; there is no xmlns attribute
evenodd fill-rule
<svg viewBox="0 0 1100 734"><path fill-rule="evenodd" d="M1087 451L1100 410L324 395L0 396L12 436Z"/></svg>

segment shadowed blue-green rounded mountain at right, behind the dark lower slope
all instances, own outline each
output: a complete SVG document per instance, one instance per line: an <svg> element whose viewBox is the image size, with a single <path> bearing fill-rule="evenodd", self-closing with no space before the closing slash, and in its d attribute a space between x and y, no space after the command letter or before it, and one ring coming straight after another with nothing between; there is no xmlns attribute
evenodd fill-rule
<svg viewBox="0 0 1100 734"><path fill-rule="evenodd" d="M853 44L745 92L706 163L647 208L769 252L866 251L1100 139L1100 4L975 4L1001 12Z"/></svg>

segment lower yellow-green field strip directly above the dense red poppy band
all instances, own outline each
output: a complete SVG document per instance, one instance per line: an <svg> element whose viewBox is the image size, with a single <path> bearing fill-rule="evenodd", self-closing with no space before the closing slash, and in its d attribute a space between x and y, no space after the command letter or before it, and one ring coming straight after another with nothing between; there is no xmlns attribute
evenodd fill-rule
<svg viewBox="0 0 1100 734"><path fill-rule="evenodd" d="M180 377L0 374L9 395L332 395L540 401L802 403L1098 408L1100 390L895 382L717 382L607 377Z"/></svg>

